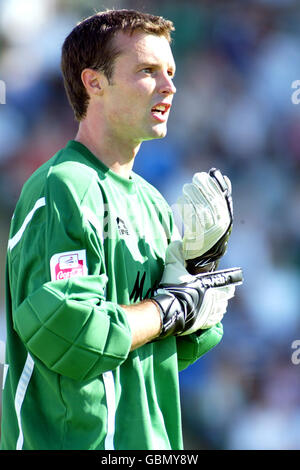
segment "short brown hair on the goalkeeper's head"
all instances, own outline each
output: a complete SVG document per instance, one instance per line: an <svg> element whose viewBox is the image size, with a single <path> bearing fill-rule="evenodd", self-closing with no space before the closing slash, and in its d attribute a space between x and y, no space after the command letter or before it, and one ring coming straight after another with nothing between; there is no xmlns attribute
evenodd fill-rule
<svg viewBox="0 0 300 470"><path fill-rule="evenodd" d="M140 30L165 36L170 43L174 29L172 21L135 10L98 12L78 23L63 43L61 58L64 85L76 120L85 117L89 102L81 72L85 68L101 70L110 81L114 61L121 52L113 44L117 32L133 34Z"/></svg>

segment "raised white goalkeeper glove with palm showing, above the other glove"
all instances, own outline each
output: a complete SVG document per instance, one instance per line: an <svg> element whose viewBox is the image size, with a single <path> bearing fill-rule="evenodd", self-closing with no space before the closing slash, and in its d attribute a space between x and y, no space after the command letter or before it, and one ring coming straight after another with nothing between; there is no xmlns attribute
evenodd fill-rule
<svg viewBox="0 0 300 470"><path fill-rule="evenodd" d="M177 207L184 224L185 266L191 274L207 266L216 269L232 230L231 182L212 168L208 173L196 173L182 192Z"/></svg>

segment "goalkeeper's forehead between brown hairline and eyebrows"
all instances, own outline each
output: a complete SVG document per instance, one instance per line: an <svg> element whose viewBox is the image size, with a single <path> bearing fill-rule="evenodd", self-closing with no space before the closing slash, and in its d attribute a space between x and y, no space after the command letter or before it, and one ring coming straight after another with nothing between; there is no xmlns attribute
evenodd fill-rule
<svg viewBox="0 0 300 470"><path fill-rule="evenodd" d="M122 51L119 58L132 63L164 64L175 69L175 61L170 44L164 36L134 32L132 36L126 33L118 33L115 45Z"/></svg>

